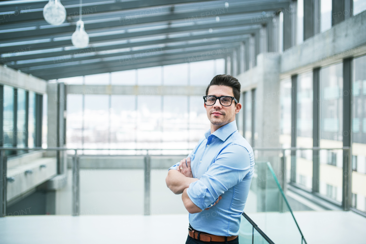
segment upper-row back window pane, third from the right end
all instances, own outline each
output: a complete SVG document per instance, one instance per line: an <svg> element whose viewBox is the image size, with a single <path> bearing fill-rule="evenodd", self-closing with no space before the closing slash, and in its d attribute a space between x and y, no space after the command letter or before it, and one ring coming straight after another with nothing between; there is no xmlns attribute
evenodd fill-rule
<svg viewBox="0 0 366 244"><path fill-rule="evenodd" d="M172 64L163 67L163 84L167 86L186 86L188 84L188 64ZM179 75L177 75L179 74Z"/></svg>

